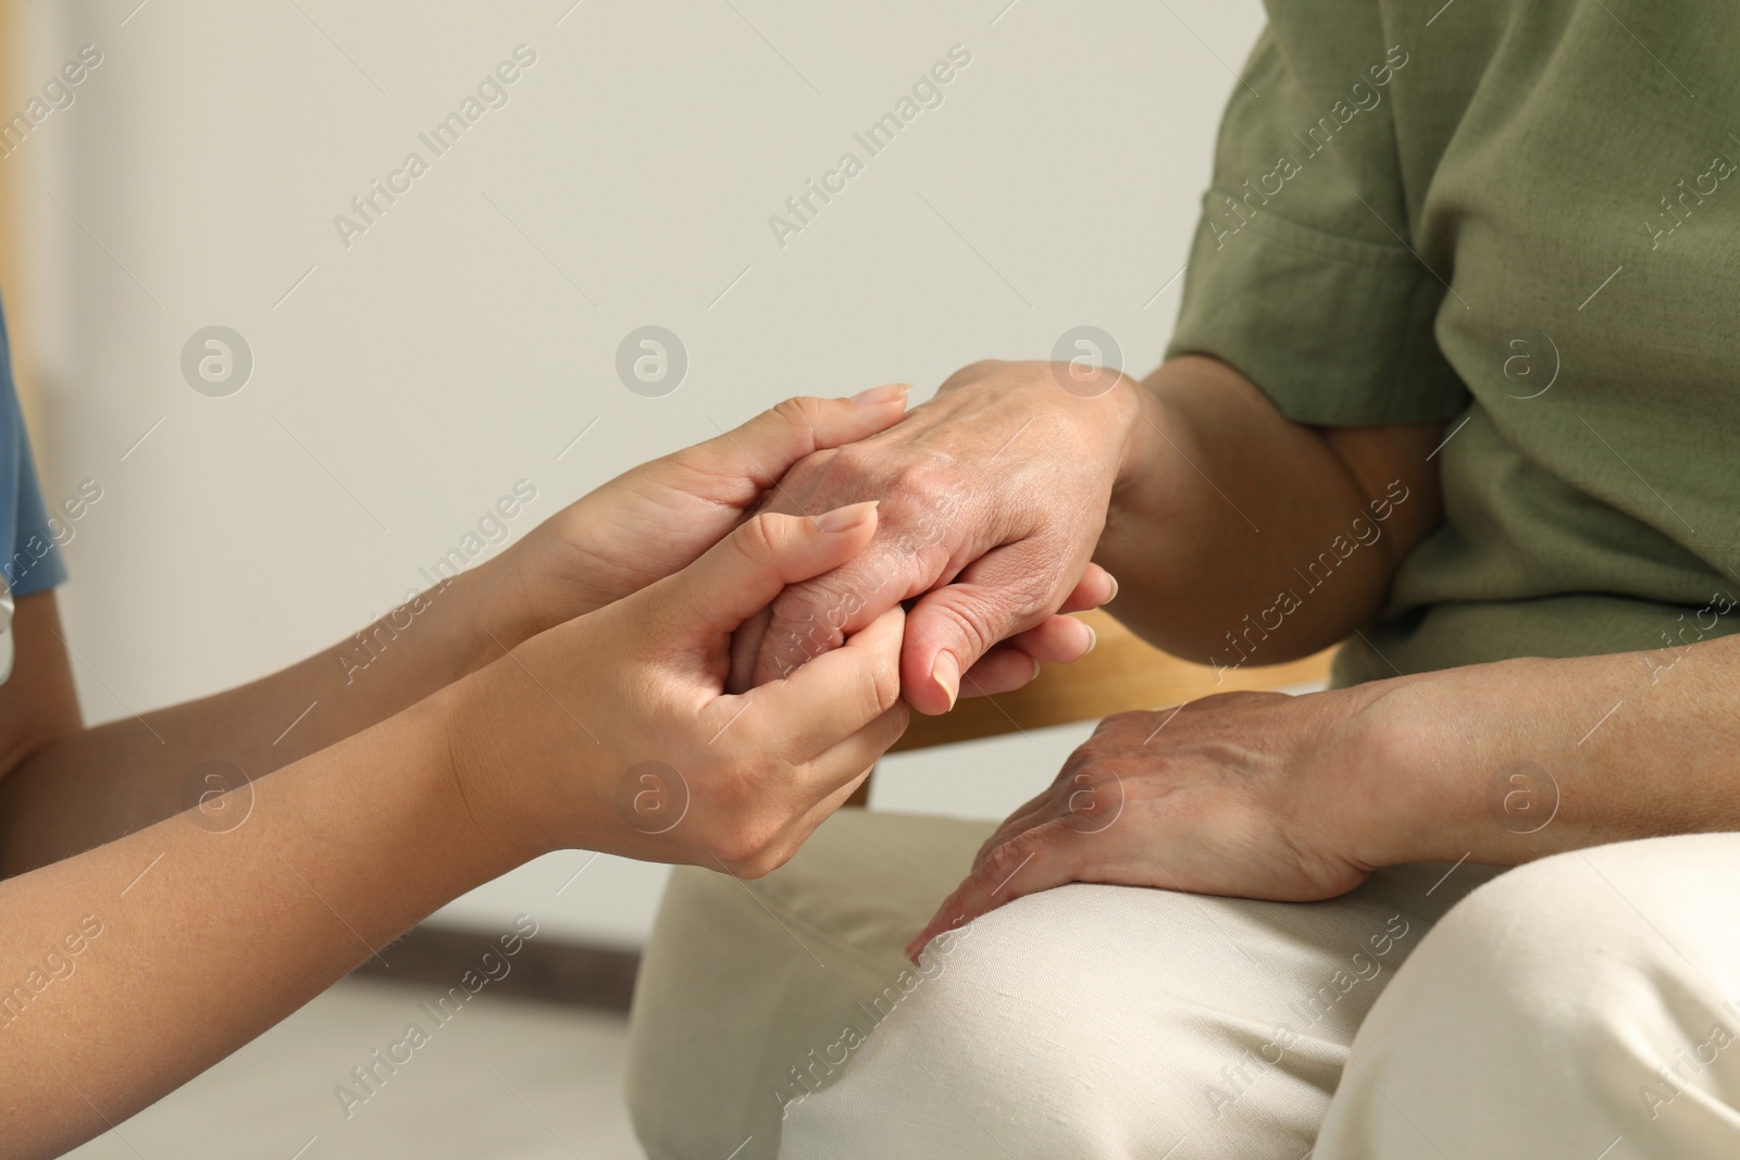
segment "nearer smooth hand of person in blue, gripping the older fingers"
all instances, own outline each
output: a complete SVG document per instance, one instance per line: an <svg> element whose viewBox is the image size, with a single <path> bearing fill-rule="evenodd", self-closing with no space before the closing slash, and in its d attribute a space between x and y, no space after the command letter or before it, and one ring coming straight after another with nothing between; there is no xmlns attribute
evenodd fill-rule
<svg viewBox="0 0 1740 1160"><path fill-rule="evenodd" d="M562 623L445 692L451 753L517 857L581 847L743 877L780 866L907 727L901 610L790 678L724 692L731 633L851 560L875 503L757 515L687 569Z"/></svg>

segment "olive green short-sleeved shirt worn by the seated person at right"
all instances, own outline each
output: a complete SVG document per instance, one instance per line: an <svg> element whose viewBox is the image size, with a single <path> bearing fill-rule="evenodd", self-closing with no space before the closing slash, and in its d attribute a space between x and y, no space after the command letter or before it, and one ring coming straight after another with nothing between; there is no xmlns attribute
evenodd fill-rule
<svg viewBox="0 0 1740 1160"><path fill-rule="evenodd" d="M1444 522L1336 683L1629 650L1658 673L1740 626L1740 3L1268 16L1168 353L1298 423L1446 423ZM1279 609L1366 548L1324 550Z"/></svg>

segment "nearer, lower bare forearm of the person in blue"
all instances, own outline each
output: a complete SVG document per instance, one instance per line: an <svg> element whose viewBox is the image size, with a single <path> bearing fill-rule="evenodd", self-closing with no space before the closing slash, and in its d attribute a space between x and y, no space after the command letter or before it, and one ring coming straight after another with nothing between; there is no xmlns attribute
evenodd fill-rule
<svg viewBox="0 0 1740 1160"><path fill-rule="evenodd" d="M125 1120L517 861L433 713L0 882L0 1157Z"/></svg>

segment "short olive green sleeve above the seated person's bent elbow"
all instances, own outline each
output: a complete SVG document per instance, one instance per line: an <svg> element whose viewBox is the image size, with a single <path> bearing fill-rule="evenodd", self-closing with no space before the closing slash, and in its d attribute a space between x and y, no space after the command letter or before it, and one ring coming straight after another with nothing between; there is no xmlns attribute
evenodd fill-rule
<svg viewBox="0 0 1740 1160"><path fill-rule="evenodd" d="M1432 334L1446 287L1408 242L1390 117L1406 73L1375 2L1270 3L1221 122L1169 358L1230 363L1296 423L1469 405Z"/></svg>

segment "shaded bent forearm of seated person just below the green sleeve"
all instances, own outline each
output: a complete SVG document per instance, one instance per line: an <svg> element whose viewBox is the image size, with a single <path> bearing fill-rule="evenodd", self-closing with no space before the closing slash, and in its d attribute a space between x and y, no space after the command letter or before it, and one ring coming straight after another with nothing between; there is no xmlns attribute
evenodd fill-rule
<svg viewBox="0 0 1740 1160"><path fill-rule="evenodd" d="M1315 430L1232 367L1143 383L1131 463L1094 560L1110 610L1188 661L1272 664L1347 637L1441 517L1436 426Z"/></svg>

